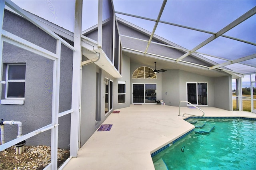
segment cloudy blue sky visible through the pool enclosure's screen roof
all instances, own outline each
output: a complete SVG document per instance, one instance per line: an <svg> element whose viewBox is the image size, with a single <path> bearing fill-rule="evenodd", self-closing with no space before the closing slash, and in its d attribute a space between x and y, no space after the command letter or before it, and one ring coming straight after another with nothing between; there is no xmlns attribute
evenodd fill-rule
<svg viewBox="0 0 256 170"><path fill-rule="evenodd" d="M74 0L13 0L21 8L36 14L71 32L74 31ZM162 0L113 0L118 12L156 19L162 6ZM180 24L209 32L218 32L230 22L256 6L256 0L168 0L161 21ZM155 22L116 14L132 24L152 31ZM98 0L83 1L82 30L98 23ZM155 34L187 49L192 49L212 34L188 30L168 24L159 23ZM225 33L242 40L256 43L256 15L242 22ZM198 52L207 53L223 59L238 59L256 53L256 46L219 37L200 48ZM204 55L208 57L207 55ZM208 57L217 63L223 59ZM256 67L256 58L245 61ZM256 68L241 64L226 66L241 73L251 73ZM245 78L247 81L248 79Z"/></svg>

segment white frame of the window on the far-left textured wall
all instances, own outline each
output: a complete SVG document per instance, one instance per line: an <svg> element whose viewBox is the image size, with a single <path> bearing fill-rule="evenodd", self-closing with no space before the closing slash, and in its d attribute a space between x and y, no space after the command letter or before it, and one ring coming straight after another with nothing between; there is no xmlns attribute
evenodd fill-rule
<svg viewBox="0 0 256 170"><path fill-rule="evenodd" d="M25 65L26 63L17 63L17 64L7 64L6 65L6 85L5 85L5 99L20 99L20 100L24 100L25 99L25 89L24 89L24 97L8 97L8 83L9 82L26 82L26 77L25 79L12 79L9 80L8 79L8 75L9 75L9 66L10 65ZM25 69L25 74L26 74L26 69Z"/></svg>

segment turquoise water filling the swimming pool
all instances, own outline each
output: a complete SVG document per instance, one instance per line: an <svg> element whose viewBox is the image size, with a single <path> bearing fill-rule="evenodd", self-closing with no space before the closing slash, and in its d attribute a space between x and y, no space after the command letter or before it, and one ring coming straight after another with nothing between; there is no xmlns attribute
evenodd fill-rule
<svg viewBox="0 0 256 170"><path fill-rule="evenodd" d="M156 170L256 170L256 121L187 121L195 130L152 157Z"/></svg>

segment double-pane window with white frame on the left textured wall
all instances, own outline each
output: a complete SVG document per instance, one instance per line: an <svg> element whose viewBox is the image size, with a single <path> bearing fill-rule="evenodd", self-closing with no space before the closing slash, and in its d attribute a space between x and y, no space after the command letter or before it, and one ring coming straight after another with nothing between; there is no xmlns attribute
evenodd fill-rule
<svg viewBox="0 0 256 170"><path fill-rule="evenodd" d="M5 98L25 97L25 73L25 64L7 65Z"/></svg>

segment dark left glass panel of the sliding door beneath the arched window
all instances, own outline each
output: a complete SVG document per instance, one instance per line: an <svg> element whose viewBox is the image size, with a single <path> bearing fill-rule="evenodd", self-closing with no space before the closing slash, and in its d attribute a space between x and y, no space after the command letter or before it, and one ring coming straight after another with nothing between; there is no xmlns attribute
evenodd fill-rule
<svg viewBox="0 0 256 170"><path fill-rule="evenodd" d="M132 84L132 103L144 103L144 84Z"/></svg>

